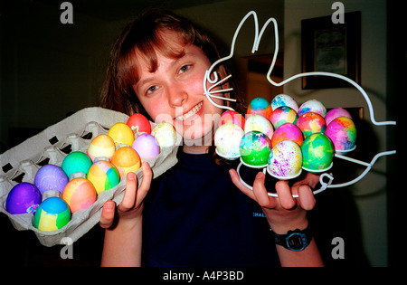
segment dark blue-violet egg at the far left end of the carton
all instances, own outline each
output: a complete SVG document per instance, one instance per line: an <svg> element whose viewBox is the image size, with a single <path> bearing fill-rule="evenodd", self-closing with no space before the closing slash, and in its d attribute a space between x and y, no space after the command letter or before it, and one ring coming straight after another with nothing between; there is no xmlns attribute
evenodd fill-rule
<svg viewBox="0 0 407 285"><path fill-rule="evenodd" d="M5 209L10 214L33 214L41 204L41 193L28 182L15 185L5 200Z"/></svg>

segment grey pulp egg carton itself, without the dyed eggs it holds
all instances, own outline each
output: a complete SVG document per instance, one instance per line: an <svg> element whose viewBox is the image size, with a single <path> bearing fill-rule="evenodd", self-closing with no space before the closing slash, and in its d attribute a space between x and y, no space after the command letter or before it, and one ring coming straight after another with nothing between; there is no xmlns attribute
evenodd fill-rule
<svg viewBox="0 0 407 285"><path fill-rule="evenodd" d="M97 201L89 208L76 211L71 221L59 230L41 232L33 226L33 214L9 214L5 210L8 193L20 182L33 183L38 169L46 164L62 166L62 161L69 153L81 151L86 153L92 138L107 134L109 128L118 122L126 123L128 115L99 107L81 109L59 123L44 129L41 133L28 138L20 145L0 155L0 212L8 216L18 231L31 230L38 240L51 247L64 244L64 238L76 242L82 235L99 223L103 204L113 200L117 204L123 200L126 177L120 183L98 195ZM156 126L150 122L151 127ZM177 134L174 147L162 147L157 157L147 160L153 171L153 177L162 175L177 162L176 152L181 142ZM136 172L138 185L143 178L141 168Z"/></svg>

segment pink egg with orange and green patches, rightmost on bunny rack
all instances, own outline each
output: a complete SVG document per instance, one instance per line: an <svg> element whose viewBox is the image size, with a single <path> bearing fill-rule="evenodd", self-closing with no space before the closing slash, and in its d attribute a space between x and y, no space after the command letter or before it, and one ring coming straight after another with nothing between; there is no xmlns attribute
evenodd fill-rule
<svg viewBox="0 0 407 285"><path fill-rule="evenodd" d="M345 154L355 149L356 127L352 119L347 117L334 119L327 126L325 134L334 143L337 153Z"/></svg>

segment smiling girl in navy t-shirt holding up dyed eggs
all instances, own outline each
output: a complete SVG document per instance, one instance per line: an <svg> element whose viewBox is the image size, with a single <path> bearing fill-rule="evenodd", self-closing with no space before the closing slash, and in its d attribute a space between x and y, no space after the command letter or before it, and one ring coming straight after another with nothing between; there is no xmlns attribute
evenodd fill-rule
<svg viewBox="0 0 407 285"><path fill-rule="evenodd" d="M279 197L274 198L267 195L262 172L251 191L241 184L235 164L213 159L216 122L207 118L219 117L222 109L206 99L203 81L219 58L207 35L163 10L142 14L119 36L110 53L102 106L153 121L166 118L184 143L176 166L153 180L143 163L141 185L128 174L122 203L104 204L102 266L322 265L306 215L315 204L311 188L317 176L308 175L291 188L277 182ZM227 74L224 67L218 73ZM244 114L238 94L221 94L236 96L232 107ZM290 246L281 242L294 230L298 234Z"/></svg>

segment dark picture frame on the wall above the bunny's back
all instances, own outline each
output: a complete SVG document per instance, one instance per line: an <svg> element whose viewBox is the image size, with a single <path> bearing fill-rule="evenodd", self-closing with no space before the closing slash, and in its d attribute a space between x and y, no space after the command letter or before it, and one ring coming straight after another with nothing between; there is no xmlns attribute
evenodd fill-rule
<svg viewBox="0 0 407 285"><path fill-rule="evenodd" d="M361 12L344 14L334 24L331 15L301 21L302 72L327 71L361 83ZM302 77L302 89L349 87L350 83L328 76Z"/></svg>

